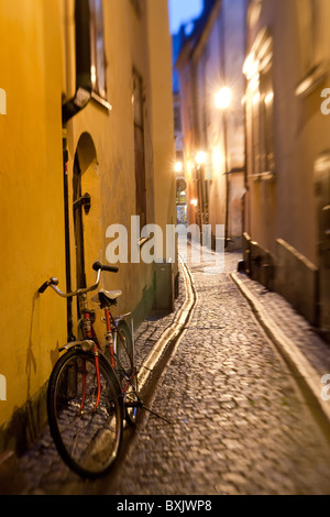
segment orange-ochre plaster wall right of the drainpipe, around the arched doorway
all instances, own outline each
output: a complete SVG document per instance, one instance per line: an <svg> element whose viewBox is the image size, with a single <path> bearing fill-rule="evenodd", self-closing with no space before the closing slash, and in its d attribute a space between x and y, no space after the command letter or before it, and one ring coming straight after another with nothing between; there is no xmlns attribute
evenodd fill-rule
<svg viewBox="0 0 330 517"><path fill-rule="evenodd" d="M147 222L164 228L175 223L174 127L172 108L170 38L166 0L144 0L141 13L130 1L109 0L103 4L107 56L108 101L112 110L91 101L68 124L69 199L74 156L84 132L94 142L97 164L82 176L82 194L92 196L91 210L85 219L87 282L95 273L92 262L106 261L106 238L110 224L123 224L131 234L131 216L135 208L133 68L143 77L145 170ZM97 197L99 193L99 199ZM70 216L72 217L72 216ZM92 231L99 220L99 229ZM73 228L73 221L72 221ZM130 249L130 246L129 246ZM165 245L164 245L165 250ZM72 256L74 262L74 235ZM165 251L164 251L165 253ZM153 264L119 264L118 275L103 275L108 289L121 289L118 312L132 311L153 285ZM74 276L73 276L74 277Z"/></svg>

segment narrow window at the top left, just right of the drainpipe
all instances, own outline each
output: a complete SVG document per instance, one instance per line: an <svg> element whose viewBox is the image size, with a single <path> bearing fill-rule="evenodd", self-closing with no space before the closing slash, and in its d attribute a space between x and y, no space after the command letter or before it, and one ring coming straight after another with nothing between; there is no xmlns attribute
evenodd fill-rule
<svg viewBox="0 0 330 517"><path fill-rule="evenodd" d="M96 95L105 99L107 84L102 0L89 0L89 10L91 88Z"/></svg>

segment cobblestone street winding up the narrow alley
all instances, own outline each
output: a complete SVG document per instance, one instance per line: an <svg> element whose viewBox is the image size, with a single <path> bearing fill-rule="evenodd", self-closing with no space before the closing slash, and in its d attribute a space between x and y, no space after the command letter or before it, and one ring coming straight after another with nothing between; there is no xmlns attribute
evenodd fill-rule
<svg viewBox="0 0 330 517"><path fill-rule="evenodd" d="M218 275L188 261L197 304L150 403L170 424L143 411L124 461L94 483L72 474L46 436L21 461L30 493L330 494L329 444L230 276L240 258L226 254ZM140 361L164 326L139 329Z"/></svg>

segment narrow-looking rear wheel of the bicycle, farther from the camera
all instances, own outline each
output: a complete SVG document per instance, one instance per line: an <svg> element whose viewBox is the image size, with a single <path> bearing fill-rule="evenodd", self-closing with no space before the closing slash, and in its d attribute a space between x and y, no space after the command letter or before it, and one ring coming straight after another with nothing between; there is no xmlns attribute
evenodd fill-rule
<svg viewBox="0 0 330 517"><path fill-rule="evenodd" d="M138 372L134 364L133 340L130 328L124 320L118 323L117 339L117 373L121 382L124 402L124 417L132 426L136 422L139 406L130 407L130 404L138 404Z"/></svg>

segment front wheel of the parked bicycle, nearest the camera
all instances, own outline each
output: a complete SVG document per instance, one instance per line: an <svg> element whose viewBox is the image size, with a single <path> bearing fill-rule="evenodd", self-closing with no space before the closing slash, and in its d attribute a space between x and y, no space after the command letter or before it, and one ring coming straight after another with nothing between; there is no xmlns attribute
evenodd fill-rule
<svg viewBox="0 0 330 517"><path fill-rule="evenodd" d="M75 349L56 363L50 378L47 413L51 433L65 463L82 477L106 474L119 454L123 409L120 386L109 364Z"/></svg>

